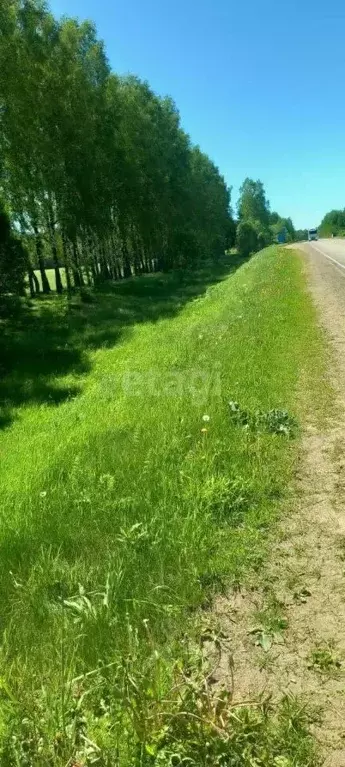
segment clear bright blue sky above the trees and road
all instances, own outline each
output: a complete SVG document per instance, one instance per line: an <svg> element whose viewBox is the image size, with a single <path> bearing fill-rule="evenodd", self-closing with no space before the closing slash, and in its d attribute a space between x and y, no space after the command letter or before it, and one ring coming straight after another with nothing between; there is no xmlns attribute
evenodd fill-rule
<svg viewBox="0 0 345 767"><path fill-rule="evenodd" d="M236 201L260 178L297 227L345 206L344 0L53 0L112 68L171 95Z"/></svg>

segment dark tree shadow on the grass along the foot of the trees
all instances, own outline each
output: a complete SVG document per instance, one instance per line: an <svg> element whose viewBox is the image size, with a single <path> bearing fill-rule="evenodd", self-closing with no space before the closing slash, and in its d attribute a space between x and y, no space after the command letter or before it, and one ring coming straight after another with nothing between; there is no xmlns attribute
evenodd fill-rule
<svg viewBox="0 0 345 767"><path fill-rule="evenodd" d="M91 294L90 303L79 296L69 303L64 296L40 297L0 321L0 429L25 403L56 406L75 397L81 387L59 385L58 379L88 373L90 350L113 347L137 323L175 316L243 263L231 255L197 271L107 283Z"/></svg>

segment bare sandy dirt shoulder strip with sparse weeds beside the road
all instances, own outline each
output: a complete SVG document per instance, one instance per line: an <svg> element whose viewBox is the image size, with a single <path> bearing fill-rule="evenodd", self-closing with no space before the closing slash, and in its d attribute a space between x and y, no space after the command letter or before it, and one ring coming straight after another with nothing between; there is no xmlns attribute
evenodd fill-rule
<svg viewBox="0 0 345 767"><path fill-rule="evenodd" d="M345 275L322 256L307 266L333 347L336 416L323 433L310 418L294 508L265 572L216 602L228 639L213 682L233 687L234 702L299 696L319 713L313 731L324 766L345 767Z"/></svg>

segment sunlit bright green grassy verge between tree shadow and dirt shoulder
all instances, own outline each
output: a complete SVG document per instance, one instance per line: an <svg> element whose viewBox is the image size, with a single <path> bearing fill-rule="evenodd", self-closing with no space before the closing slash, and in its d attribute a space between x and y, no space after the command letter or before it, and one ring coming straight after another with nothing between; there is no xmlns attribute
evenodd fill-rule
<svg viewBox="0 0 345 767"><path fill-rule="evenodd" d="M217 702L205 664L217 595L268 567L306 412L329 397L325 349L300 255L272 247L3 433L8 764L29 740L59 767L315 765L295 701L246 706L236 683Z"/></svg>

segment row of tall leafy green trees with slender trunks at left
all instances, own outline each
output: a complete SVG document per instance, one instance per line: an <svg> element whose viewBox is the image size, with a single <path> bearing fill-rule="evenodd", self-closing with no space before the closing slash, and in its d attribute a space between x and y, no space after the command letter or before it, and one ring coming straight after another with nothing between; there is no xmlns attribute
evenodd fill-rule
<svg viewBox="0 0 345 767"><path fill-rule="evenodd" d="M94 25L44 0L0 6L0 293L34 297L244 255L291 219L246 179L238 222L218 168L170 98L111 71ZM37 278L37 270L40 280Z"/></svg>

